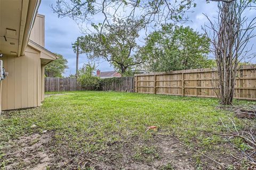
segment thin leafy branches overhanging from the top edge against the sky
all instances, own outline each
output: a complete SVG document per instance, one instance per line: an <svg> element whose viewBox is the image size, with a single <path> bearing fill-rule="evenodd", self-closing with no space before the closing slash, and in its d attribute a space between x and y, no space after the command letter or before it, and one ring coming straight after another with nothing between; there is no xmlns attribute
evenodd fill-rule
<svg viewBox="0 0 256 170"><path fill-rule="evenodd" d="M102 27L110 25L113 18L142 19L145 23L185 21L186 12L195 6L194 0L57 0L51 5L58 17L69 17L77 23L100 16Z"/></svg>

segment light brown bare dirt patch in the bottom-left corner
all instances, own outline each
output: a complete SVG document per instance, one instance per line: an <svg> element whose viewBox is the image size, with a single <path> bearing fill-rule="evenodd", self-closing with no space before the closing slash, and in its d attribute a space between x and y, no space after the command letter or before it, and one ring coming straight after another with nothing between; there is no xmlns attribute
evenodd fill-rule
<svg viewBox="0 0 256 170"><path fill-rule="evenodd" d="M46 147L52 133L22 136L9 142L6 150L6 169L46 169L52 155Z"/></svg>

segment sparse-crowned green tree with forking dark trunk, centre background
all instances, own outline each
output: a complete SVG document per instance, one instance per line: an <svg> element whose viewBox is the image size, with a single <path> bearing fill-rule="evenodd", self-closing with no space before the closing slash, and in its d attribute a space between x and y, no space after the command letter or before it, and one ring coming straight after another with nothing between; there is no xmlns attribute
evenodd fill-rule
<svg viewBox="0 0 256 170"><path fill-rule="evenodd" d="M137 55L139 31L143 28L141 20L114 20L113 24L94 28L97 34L79 37L80 52L87 58L104 59L122 75L143 63L143 56Z"/></svg>

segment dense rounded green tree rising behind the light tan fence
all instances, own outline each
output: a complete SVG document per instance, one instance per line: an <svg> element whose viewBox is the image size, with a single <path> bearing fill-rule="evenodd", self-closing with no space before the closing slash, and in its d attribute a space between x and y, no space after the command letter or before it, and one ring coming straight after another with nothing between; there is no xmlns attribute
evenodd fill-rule
<svg viewBox="0 0 256 170"><path fill-rule="evenodd" d="M207 59L210 42L204 34L189 27L163 25L146 38L140 55L147 58L149 71L171 71L211 67Z"/></svg>

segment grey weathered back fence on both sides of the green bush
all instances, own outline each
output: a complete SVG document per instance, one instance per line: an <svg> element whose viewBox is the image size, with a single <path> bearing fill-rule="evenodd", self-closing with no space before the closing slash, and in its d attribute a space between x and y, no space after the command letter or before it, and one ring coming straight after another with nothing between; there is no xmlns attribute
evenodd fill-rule
<svg viewBox="0 0 256 170"><path fill-rule="evenodd" d="M103 91L133 92L133 77L115 77L103 79L100 89ZM45 92L84 90L76 78L45 78Z"/></svg>

